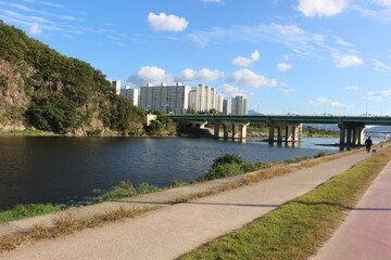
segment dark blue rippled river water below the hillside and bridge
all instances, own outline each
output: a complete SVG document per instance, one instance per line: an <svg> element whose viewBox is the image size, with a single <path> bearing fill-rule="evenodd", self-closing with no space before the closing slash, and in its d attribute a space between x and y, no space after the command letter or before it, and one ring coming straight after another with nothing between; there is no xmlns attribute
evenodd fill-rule
<svg viewBox="0 0 391 260"><path fill-rule="evenodd" d="M0 210L17 204L85 200L119 181L165 186L203 176L213 159L234 153L249 161L279 161L335 153L337 139L303 139L300 147L180 138L0 138Z"/></svg>

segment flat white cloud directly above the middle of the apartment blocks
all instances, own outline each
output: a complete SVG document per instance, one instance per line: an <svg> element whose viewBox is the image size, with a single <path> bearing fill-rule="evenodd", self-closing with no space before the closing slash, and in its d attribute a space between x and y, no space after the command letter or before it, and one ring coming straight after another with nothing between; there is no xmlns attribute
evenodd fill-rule
<svg viewBox="0 0 391 260"><path fill-rule="evenodd" d="M224 76L224 73L215 69L202 68L200 72L195 72L191 68L181 70L180 75L175 77L176 81L190 82L190 81L214 81Z"/></svg>

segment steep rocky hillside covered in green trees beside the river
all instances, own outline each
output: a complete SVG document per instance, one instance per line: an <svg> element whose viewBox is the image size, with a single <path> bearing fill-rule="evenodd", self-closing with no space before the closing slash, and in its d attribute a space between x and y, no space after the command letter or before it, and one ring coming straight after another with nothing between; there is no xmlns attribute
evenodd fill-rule
<svg viewBox="0 0 391 260"><path fill-rule="evenodd" d="M143 118L101 72L0 21L0 131L140 134Z"/></svg>

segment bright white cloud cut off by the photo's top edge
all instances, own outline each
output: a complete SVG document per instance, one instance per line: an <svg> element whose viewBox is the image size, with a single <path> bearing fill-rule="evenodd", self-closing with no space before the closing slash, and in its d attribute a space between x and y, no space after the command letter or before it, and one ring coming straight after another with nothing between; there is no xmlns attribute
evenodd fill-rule
<svg viewBox="0 0 391 260"><path fill-rule="evenodd" d="M346 9L349 0L299 0L299 11L305 16L332 16Z"/></svg>

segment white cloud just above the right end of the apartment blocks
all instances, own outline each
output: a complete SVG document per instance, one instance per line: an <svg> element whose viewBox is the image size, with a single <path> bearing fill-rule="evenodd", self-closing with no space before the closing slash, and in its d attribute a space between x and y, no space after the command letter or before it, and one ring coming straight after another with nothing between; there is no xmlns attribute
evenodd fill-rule
<svg viewBox="0 0 391 260"><path fill-rule="evenodd" d="M235 72L228 79L229 82L238 83L242 87L276 87L276 79L267 79L263 75L256 75L250 69L243 68Z"/></svg>

